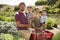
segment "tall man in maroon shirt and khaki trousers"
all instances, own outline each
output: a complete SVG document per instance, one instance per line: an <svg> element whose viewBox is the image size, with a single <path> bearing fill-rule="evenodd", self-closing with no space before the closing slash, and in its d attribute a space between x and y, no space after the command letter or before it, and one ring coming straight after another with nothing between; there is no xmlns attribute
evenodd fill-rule
<svg viewBox="0 0 60 40"><path fill-rule="evenodd" d="M21 2L19 4L19 11L15 15L15 20L18 31L21 33L23 38L29 40L30 32L27 29L30 28L30 24L28 24L26 14L24 13L25 7L25 3Z"/></svg>

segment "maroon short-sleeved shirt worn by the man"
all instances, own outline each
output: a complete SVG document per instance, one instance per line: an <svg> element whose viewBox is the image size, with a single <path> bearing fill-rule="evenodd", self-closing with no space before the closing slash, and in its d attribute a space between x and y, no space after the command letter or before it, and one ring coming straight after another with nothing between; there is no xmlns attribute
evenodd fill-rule
<svg viewBox="0 0 60 40"><path fill-rule="evenodd" d="M28 23L26 16L24 15L24 13L21 13L21 12L17 12L17 14L15 15L15 20L20 21L22 24L27 24ZM17 26L17 29L18 30L26 30L27 28Z"/></svg>

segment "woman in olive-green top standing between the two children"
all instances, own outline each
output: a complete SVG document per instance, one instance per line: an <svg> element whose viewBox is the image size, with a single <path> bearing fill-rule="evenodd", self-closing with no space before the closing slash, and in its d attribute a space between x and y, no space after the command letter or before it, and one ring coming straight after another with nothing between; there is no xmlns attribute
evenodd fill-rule
<svg viewBox="0 0 60 40"><path fill-rule="evenodd" d="M32 20L33 27L36 29L40 29L40 16L39 16L39 9L35 8L34 9L34 16Z"/></svg>

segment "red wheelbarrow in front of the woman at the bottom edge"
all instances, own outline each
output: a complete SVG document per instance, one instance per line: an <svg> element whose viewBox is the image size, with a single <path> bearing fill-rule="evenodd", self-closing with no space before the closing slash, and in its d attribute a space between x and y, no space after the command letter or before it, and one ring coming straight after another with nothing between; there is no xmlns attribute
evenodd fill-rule
<svg viewBox="0 0 60 40"><path fill-rule="evenodd" d="M52 40L52 38L53 38L53 33L52 32L44 31L40 35L38 35L37 33L31 33L30 40Z"/></svg>

